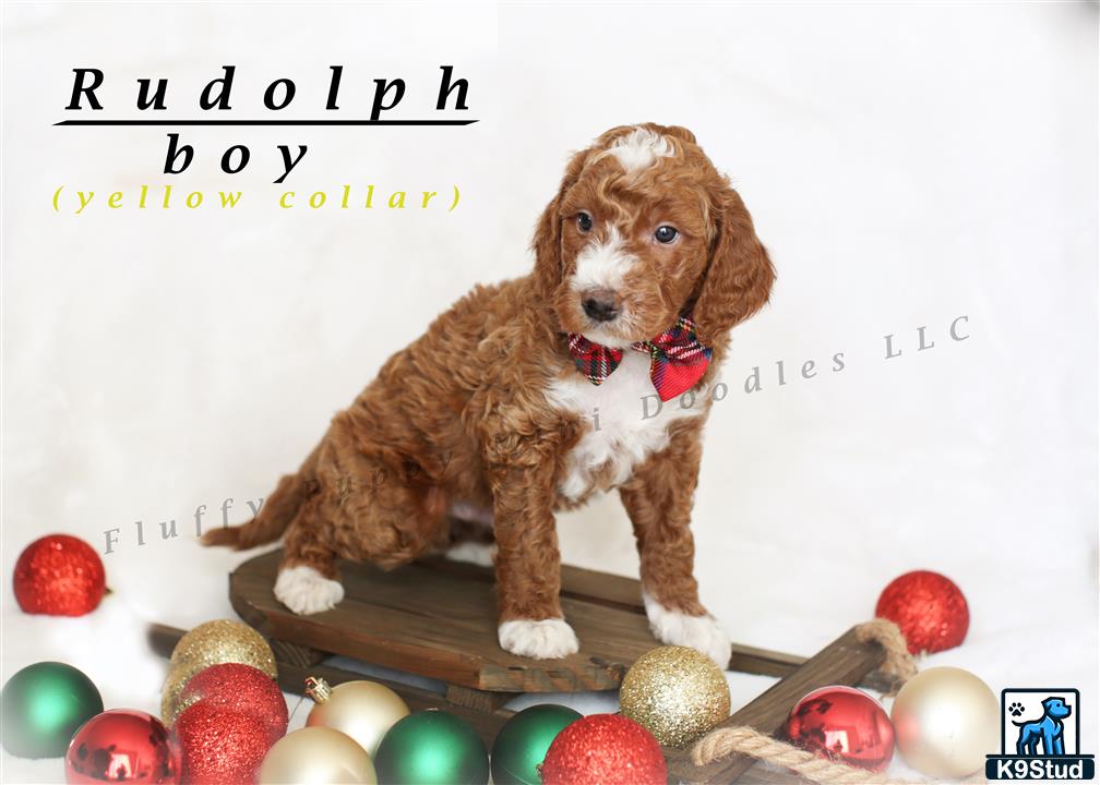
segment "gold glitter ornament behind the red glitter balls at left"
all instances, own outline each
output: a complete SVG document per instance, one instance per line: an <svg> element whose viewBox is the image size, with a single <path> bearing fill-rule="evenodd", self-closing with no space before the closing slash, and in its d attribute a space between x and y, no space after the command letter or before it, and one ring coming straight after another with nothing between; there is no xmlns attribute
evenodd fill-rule
<svg viewBox="0 0 1100 785"><path fill-rule="evenodd" d="M275 654L264 637L242 621L216 619L199 624L179 639L168 661L168 677L161 693L161 718L172 723L187 708L177 706L188 679L210 665L239 662L278 677Z"/></svg>

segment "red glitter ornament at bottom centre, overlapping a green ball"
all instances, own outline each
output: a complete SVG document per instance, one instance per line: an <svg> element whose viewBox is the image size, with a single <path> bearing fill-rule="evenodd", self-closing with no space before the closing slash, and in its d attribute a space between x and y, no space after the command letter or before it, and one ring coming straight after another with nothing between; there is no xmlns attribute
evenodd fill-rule
<svg viewBox="0 0 1100 785"><path fill-rule="evenodd" d="M649 731L619 715L565 726L542 762L542 785L666 785L669 770Z"/></svg>

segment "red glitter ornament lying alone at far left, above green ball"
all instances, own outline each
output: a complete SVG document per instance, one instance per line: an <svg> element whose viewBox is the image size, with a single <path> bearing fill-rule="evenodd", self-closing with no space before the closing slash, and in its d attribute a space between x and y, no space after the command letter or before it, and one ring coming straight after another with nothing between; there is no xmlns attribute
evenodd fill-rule
<svg viewBox="0 0 1100 785"><path fill-rule="evenodd" d="M28 545L15 562L12 586L24 612L50 616L84 616L107 590L99 554L68 534L48 534Z"/></svg>

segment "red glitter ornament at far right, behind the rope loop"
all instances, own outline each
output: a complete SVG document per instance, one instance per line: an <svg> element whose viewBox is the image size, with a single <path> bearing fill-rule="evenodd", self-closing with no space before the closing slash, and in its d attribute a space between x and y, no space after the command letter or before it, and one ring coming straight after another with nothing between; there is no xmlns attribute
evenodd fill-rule
<svg viewBox="0 0 1100 785"><path fill-rule="evenodd" d="M954 649L970 627L966 597L950 578L919 570L882 589L875 616L898 624L910 654Z"/></svg>

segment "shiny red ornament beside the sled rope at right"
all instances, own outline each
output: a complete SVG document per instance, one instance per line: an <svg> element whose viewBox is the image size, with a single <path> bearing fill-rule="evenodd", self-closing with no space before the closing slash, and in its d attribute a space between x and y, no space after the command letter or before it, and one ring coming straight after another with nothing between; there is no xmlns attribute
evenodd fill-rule
<svg viewBox="0 0 1100 785"><path fill-rule="evenodd" d="M893 759L893 726L879 701L853 687L822 687L787 718L791 743L822 758L881 772Z"/></svg>

